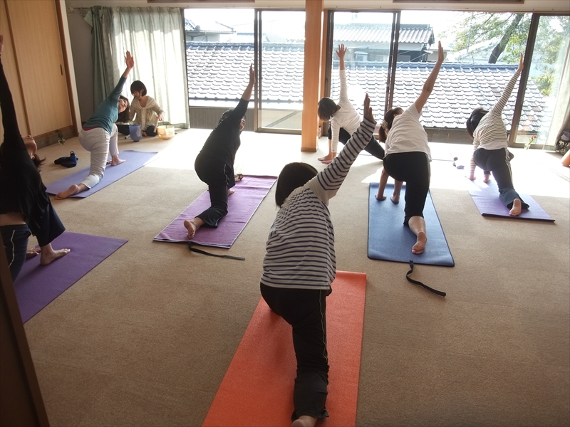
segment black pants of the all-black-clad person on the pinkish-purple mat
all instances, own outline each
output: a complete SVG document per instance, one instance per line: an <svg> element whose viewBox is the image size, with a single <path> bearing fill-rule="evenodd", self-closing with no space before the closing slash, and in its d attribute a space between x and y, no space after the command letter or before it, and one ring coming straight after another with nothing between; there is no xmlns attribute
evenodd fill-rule
<svg viewBox="0 0 570 427"><path fill-rule="evenodd" d="M208 184L210 201L210 207L197 217L207 226L217 227L219 221L227 215L227 191L234 186L235 181L229 178L227 165L222 162L205 162L197 157L194 169L198 178Z"/></svg>

